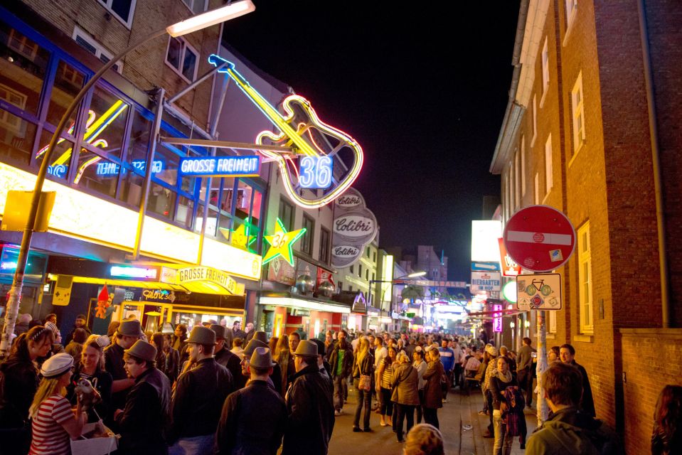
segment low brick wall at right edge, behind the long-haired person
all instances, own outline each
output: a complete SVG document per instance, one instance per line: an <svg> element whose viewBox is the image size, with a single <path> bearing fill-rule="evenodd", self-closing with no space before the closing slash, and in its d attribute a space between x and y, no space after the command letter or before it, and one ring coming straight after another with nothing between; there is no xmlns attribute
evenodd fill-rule
<svg viewBox="0 0 682 455"><path fill-rule="evenodd" d="M622 329L622 351L626 451L649 454L656 399L666 384L682 385L682 329Z"/></svg>

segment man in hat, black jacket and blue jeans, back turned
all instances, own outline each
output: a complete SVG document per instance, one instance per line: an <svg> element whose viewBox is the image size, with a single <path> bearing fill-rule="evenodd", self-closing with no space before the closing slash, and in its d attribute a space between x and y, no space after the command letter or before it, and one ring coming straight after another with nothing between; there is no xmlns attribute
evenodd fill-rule
<svg viewBox="0 0 682 455"><path fill-rule="evenodd" d="M170 455L199 455L213 449L220 409L234 390L232 373L213 358L214 331L196 326L186 343L189 361L196 366L180 375L173 393Z"/></svg>

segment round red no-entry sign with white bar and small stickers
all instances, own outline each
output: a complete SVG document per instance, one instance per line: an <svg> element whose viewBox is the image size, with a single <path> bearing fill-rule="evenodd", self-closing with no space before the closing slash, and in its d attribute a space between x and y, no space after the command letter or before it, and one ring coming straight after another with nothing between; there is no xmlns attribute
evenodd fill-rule
<svg viewBox="0 0 682 455"><path fill-rule="evenodd" d="M550 272L575 249L575 229L566 215L548 205L531 205L509 218L502 235L511 259L532 272Z"/></svg>

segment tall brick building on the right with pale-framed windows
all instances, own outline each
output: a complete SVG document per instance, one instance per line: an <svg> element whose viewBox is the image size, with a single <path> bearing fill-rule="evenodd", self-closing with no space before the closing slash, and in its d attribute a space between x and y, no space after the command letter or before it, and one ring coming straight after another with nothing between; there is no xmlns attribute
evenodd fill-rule
<svg viewBox="0 0 682 455"><path fill-rule="evenodd" d="M575 226L575 252L556 271L564 308L549 312L547 345L572 343L597 417L627 434L639 428L646 440L659 391L679 383L672 372L642 371L648 364L632 355L646 340L655 350L657 336L678 339L669 327L682 319L681 20L664 1L521 1L510 100L491 163L502 176L503 222L545 204ZM672 368L679 377L682 367ZM642 374L647 387L633 400L624 381ZM643 453L641 437L627 439L628 453Z"/></svg>

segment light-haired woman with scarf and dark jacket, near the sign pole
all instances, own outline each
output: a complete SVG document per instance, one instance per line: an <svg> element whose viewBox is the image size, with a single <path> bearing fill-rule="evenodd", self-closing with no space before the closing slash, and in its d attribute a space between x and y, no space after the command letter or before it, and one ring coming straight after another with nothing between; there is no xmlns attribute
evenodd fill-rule
<svg viewBox="0 0 682 455"><path fill-rule="evenodd" d="M489 366L492 368L493 364ZM495 430L495 444L493 446L493 455L509 455L511 454L511 442L513 436L511 432L507 432L506 413L509 409L506 404L504 392L507 387L516 385L518 382L511 375L507 358L499 357L496 360L497 370L490 376L489 390L493 397L493 427ZM523 410L523 408L521 408Z"/></svg>

